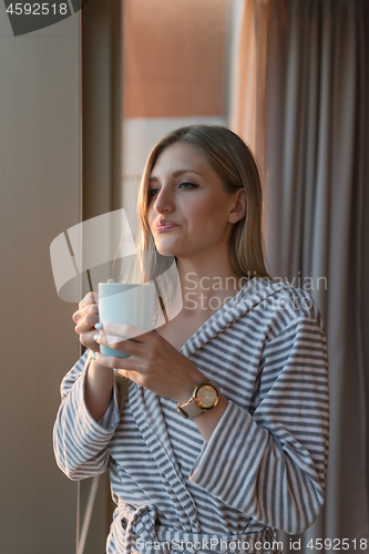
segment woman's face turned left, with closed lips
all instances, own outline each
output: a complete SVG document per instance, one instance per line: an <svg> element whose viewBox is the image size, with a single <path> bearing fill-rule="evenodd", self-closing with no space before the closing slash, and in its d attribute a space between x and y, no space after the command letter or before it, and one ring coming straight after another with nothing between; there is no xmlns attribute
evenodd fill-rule
<svg viewBox="0 0 369 554"><path fill-rule="evenodd" d="M203 258L227 249L238 193L227 193L217 173L189 144L167 146L148 185L148 225L157 250L177 258Z"/></svg>

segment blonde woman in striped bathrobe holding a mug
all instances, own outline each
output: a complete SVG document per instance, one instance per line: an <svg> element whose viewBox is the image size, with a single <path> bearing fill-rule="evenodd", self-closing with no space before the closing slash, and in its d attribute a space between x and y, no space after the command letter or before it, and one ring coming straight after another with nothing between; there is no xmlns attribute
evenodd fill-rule
<svg viewBox="0 0 369 554"><path fill-rule="evenodd" d="M229 130L160 141L139 211L142 249L176 258L183 308L117 341L121 359L99 348L130 329L96 325L95 295L82 300L73 319L89 350L62 383L58 464L75 480L110 469L107 553L273 552L274 529L303 532L324 502L321 318L307 293L267 274L259 174ZM113 368L130 381L121 410Z"/></svg>

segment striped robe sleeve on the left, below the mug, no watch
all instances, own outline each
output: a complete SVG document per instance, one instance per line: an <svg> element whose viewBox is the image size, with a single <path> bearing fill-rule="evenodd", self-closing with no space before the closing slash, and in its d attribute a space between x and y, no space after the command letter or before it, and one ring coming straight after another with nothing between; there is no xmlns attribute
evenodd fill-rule
<svg viewBox="0 0 369 554"><path fill-rule="evenodd" d="M53 448L59 468L72 480L103 473L109 468L107 445L120 421L117 391L96 422L84 400L89 360L85 352L61 383L62 402L53 428Z"/></svg>

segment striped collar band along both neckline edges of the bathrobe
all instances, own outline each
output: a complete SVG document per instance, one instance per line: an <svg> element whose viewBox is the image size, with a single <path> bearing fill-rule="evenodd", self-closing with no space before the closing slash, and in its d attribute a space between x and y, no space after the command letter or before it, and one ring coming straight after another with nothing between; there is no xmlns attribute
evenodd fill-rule
<svg viewBox="0 0 369 554"><path fill-rule="evenodd" d="M288 283L274 283L269 279L253 278L239 293L214 314L182 347L181 352L191 357L203 345L224 331L234 321L253 309L269 296L281 288L290 288ZM163 412L156 394L152 391L132 383L130 393L130 408L137 428L154 456L163 480L165 493L173 504L173 513L177 521L171 523L184 532L199 533L195 502L187 489L186 482L174 455L171 439L166 429ZM204 444L205 448L205 444Z"/></svg>

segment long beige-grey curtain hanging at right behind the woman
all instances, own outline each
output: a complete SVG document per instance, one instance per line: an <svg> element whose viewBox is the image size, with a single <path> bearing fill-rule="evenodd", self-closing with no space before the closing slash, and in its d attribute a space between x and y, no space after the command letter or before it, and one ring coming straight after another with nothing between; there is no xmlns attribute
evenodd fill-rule
<svg viewBox="0 0 369 554"><path fill-rule="evenodd" d="M310 538L312 545L336 538L338 550L349 544L348 552L369 551L369 542L360 546L369 541L369 321L361 286L369 212L368 37L366 0L244 2L232 126L250 144L264 174L271 274L309 290L328 336L327 494L318 521L296 537L306 554L317 552L307 547ZM284 552L293 552L286 536ZM329 541L320 552L332 552Z"/></svg>

